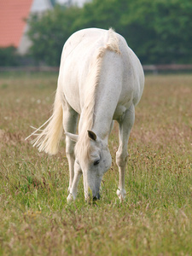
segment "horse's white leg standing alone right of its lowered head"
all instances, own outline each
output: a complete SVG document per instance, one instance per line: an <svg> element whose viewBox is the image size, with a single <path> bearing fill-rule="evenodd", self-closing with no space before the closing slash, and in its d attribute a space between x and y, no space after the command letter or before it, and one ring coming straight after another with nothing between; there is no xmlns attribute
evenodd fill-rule
<svg viewBox="0 0 192 256"><path fill-rule="evenodd" d="M119 188L117 195L120 201L125 198L125 168L128 160L127 145L130 137L132 125L135 120L135 108L131 105L125 112L125 117L119 122L119 148L116 153L116 163L119 166Z"/></svg>

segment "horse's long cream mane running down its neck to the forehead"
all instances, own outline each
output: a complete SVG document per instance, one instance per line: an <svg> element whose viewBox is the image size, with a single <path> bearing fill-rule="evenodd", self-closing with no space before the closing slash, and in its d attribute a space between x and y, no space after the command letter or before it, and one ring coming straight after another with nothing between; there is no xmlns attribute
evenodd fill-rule
<svg viewBox="0 0 192 256"><path fill-rule="evenodd" d="M79 159L85 160L90 157L90 138L88 137L88 131L91 130L93 126L96 89L100 81L102 59L107 50L116 52L118 54L120 53L119 39L112 28L108 30L107 42L97 50L95 60L92 61L90 72L86 79L84 111L82 113L84 117L84 124L79 133L79 140L75 146L75 154Z"/></svg>

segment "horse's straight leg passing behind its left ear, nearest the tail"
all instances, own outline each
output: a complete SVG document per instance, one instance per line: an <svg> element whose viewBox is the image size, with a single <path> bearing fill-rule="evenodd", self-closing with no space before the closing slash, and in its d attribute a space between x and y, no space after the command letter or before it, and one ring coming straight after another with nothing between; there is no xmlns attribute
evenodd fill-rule
<svg viewBox="0 0 192 256"><path fill-rule="evenodd" d="M73 108L68 106L67 103L63 105L63 129L65 132L71 132L73 134L76 133L78 116L79 114L76 113L73 110ZM68 191L72 187L73 177L74 177L74 162L75 162L74 146L75 146L75 142L73 142L69 137L66 137L66 155L67 155L69 175L70 175Z"/></svg>

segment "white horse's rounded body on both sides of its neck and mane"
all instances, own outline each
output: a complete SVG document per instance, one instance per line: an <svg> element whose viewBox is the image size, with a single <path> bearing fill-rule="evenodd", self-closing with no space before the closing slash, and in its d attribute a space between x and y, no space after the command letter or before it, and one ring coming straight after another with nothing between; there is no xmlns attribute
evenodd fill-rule
<svg viewBox="0 0 192 256"><path fill-rule="evenodd" d="M130 96L132 94L132 101L136 105L143 93L143 68L137 56L126 44L125 38L118 33L115 33L115 35L119 41L120 54L112 53L111 50L106 51L103 57L102 69L107 71L109 65L116 65L117 63L115 64L113 61L113 55L118 55L116 59L121 62L123 67L123 83L119 85L121 86L121 88L119 87L121 96L125 98L125 95ZM61 56L59 84L64 90L67 102L78 113L81 113L82 104L80 101L82 94L84 94L84 84L86 84L90 66L94 61L94 55L101 47L106 46L107 41L108 30L88 28L73 33L64 45ZM108 55L112 56L108 58ZM104 67L105 58L108 59L106 67Z"/></svg>

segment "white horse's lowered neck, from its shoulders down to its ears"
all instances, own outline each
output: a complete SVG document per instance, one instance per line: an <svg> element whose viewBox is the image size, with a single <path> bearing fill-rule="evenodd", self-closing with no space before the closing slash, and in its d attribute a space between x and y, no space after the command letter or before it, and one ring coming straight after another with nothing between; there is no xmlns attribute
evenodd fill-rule
<svg viewBox="0 0 192 256"><path fill-rule="evenodd" d="M90 87L91 90L84 88L84 102L80 118L81 127L89 128L96 132L96 135L103 140L108 139L113 113L119 102L119 95L122 86L122 59L114 52L108 51L102 58L102 68L99 68L98 83L96 88ZM98 76L98 74L96 73ZM93 90L92 90L93 89ZM87 92L88 91L88 92ZM86 93L88 93L86 95ZM90 113L89 113L89 110ZM88 127L91 123L91 127ZM87 127L85 127L88 125Z"/></svg>

